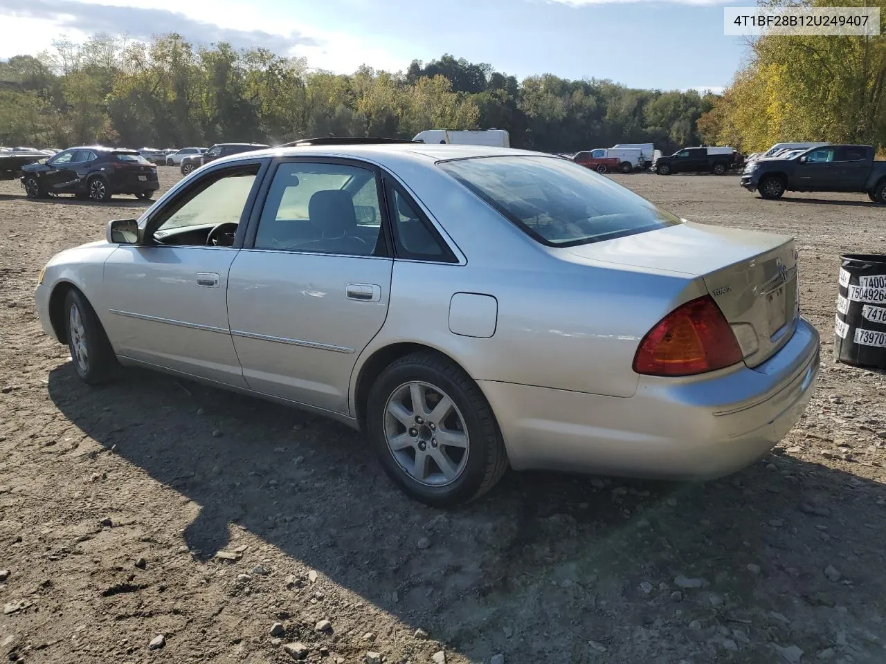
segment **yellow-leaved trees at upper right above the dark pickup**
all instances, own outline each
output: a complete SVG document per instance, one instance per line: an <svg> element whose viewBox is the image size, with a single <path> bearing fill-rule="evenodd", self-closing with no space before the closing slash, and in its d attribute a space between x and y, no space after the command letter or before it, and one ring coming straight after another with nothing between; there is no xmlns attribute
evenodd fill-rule
<svg viewBox="0 0 886 664"><path fill-rule="evenodd" d="M767 5L859 6L852 0ZM881 27L886 0L879 6ZM703 140L761 151L773 143L886 145L886 35L773 36L750 43L750 58L698 121Z"/></svg>

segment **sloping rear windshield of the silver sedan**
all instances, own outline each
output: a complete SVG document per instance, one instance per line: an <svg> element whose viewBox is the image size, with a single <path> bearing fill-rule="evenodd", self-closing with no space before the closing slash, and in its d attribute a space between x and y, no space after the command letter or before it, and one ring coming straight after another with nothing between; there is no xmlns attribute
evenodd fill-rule
<svg viewBox="0 0 886 664"><path fill-rule="evenodd" d="M548 246L601 242L680 223L629 189L565 159L482 157L439 166Z"/></svg>

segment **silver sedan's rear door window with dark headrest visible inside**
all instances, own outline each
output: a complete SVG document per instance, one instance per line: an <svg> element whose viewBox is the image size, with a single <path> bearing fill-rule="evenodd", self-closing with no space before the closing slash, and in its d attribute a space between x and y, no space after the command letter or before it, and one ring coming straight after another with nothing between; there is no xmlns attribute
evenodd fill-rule
<svg viewBox="0 0 886 664"><path fill-rule="evenodd" d="M375 173L329 163L281 164L261 211L255 249L371 256L381 243Z"/></svg>

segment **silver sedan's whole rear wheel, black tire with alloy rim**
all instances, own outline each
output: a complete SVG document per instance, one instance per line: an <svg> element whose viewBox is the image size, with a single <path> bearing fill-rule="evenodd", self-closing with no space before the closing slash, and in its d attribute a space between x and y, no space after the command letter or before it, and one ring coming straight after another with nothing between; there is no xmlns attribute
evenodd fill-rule
<svg viewBox="0 0 886 664"><path fill-rule="evenodd" d="M424 400L418 409L412 400L417 394ZM436 406L446 398L450 405L440 415ZM477 383L431 351L400 358L379 374L369 390L366 427L385 473L408 496L430 506L456 506L478 498L508 467L492 408ZM438 442L444 431L452 444ZM389 443L398 440L399 447ZM424 459L421 467L416 462L419 454Z"/></svg>

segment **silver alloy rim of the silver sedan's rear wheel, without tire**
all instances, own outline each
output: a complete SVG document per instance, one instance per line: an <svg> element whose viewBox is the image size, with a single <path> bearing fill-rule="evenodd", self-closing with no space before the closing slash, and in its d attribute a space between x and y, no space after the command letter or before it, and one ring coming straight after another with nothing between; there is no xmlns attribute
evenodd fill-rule
<svg viewBox="0 0 886 664"><path fill-rule="evenodd" d="M405 382L385 405L385 440L397 464L426 486L445 486L462 475L469 437L452 398L427 382Z"/></svg>

